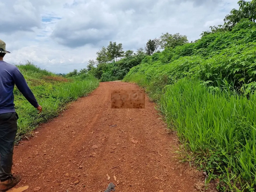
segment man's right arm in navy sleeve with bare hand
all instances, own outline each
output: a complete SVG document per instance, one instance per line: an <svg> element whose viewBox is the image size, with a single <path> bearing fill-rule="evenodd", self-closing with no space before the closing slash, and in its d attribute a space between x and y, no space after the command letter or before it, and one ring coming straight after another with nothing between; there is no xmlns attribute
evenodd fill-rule
<svg viewBox="0 0 256 192"><path fill-rule="evenodd" d="M39 112L42 111L42 107L37 103L37 100L28 87L28 84L23 76L23 74L19 71L18 68L15 68L13 71L13 79L14 83L16 84L18 90L24 95L24 97L28 100L28 102L33 105Z"/></svg>

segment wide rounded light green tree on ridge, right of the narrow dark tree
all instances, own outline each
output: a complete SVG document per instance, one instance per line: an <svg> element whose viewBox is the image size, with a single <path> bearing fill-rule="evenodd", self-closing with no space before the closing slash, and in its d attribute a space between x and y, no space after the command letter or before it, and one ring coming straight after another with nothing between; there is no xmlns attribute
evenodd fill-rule
<svg viewBox="0 0 256 192"><path fill-rule="evenodd" d="M161 49L164 49L165 47L175 48L176 46L184 45L186 43L188 43L187 36L180 35L179 33L174 35L169 34L168 32L166 34L162 33L159 39L159 45Z"/></svg>

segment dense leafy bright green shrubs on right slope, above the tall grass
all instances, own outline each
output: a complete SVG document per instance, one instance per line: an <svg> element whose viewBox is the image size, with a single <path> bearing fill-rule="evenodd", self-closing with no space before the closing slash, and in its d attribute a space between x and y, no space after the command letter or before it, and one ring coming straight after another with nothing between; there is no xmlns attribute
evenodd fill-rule
<svg viewBox="0 0 256 192"><path fill-rule="evenodd" d="M148 79L167 75L169 83L189 76L214 87L225 79L239 91L249 93L256 88L256 24L244 19L237 25L232 31L209 34L195 43L147 56L127 76L136 72L145 73Z"/></svg>

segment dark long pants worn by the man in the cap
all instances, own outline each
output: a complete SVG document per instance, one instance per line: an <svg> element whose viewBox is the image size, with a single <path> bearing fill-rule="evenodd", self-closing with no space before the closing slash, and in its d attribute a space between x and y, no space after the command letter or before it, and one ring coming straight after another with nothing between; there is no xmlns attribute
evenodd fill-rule
<svg viewBox="0 0 256 192"><path fill-rule="evenodd" d="M17 113L0 114L0 180L13 177L13 148L17 133Z"/></svg>

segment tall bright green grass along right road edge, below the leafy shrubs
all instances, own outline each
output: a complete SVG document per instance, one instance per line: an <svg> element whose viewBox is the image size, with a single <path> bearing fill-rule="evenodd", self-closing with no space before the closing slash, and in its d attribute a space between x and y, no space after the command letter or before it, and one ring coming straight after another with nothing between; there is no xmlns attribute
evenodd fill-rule
<svg viewBox="0 0 256 192"><path fill-rule="evenodd" d="M188 78L157 84L140 73L123 81L137 83L158 103L169 129L179 136L186 160L211 179L219 178L220 191L255 191L256 94L248 100L225 84L221 91Z"/></svg>

